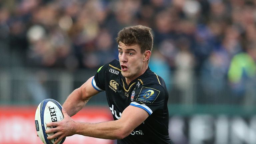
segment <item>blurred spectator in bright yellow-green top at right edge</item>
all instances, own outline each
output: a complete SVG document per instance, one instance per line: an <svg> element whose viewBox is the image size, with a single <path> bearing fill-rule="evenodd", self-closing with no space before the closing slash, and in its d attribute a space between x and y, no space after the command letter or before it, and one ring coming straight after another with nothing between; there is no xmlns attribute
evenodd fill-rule
<svg viewBox="0 0 256 144"><path fill-rule="evenodd" d="M244 105L255 104L256 80L256 48L248 45L246 52L236 54L230 63L228 80L237 103Z"/></svg>

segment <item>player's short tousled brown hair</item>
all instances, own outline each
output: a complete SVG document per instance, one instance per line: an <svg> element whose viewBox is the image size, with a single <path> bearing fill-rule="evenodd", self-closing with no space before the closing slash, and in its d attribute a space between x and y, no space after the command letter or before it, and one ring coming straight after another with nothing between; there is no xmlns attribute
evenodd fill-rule
<svg viewBox="0 0 256 144"><path fill-rule="evenodd" d="M118 32L116 42L124 43L125 45L138 44L141 49L141 53L146 50L152 51L153 49L153 35L151 33L151 28L136 25L125 27Z"/></svg>

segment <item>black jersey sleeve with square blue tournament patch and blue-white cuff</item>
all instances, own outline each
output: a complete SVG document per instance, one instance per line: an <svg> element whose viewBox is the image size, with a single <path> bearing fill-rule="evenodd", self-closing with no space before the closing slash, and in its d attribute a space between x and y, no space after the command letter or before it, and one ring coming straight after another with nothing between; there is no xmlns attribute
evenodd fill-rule
<svg viewBox="0 0 256 144"><path fill-rule="evenodd" d="M131 97L134 98L130 105L142 108L151 115L154 111L163 109L165 91L161 85L145 86L132 92Z"/></svg>

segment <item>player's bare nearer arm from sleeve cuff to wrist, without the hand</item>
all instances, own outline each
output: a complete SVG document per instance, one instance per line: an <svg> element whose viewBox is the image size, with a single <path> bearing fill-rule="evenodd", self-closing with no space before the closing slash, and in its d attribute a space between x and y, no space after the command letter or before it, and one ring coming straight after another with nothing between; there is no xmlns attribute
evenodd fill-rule
<svg viewBox="0 0 256 144"><path fill-rule="evenodd" d="M136 111L136 114L134 112ZM102 139L123 139L139 126L149 114L138 107L128 106L122 117L102 123L75 122L75 133Z"/></svg>

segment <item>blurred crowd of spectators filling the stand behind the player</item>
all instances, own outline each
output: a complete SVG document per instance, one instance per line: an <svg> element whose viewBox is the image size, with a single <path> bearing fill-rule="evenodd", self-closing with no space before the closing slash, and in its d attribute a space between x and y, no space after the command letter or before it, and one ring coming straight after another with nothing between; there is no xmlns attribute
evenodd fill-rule
<svg viewBox="0 0 256 144"><path fill-rule="evenodd" d="M209 101L228 86L250 103L255 22L255 0L1 0L0 66L98 68L118 58L117 32L141 24L154 34L150 68L184 103L195 77Z"/></svg>

